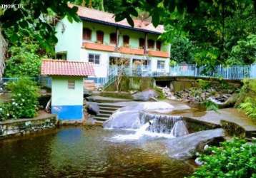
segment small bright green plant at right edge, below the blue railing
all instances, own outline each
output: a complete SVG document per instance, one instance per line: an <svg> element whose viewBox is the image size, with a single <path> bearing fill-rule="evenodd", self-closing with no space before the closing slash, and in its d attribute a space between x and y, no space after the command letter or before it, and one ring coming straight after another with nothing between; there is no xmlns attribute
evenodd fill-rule
<svg viewBox="0 0 256 178"><path fill-rule="evenodd" d="M247 97L243 103L238 106L253 120L256 120L256 99Z"/></svg>

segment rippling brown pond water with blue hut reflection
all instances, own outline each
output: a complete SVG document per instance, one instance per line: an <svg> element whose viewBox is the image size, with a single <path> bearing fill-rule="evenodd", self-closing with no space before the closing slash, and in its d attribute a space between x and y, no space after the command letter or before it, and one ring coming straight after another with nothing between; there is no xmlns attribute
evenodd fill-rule
<svg viewBox="0 0 256 178"><path fill-rule="evenodd" d="M143 142L109 142L130 131L66 127L0 143L0 177L184 177L192 169ZM154 144L152 144L154 145ZM152 151L151 151L152 150Z"/></svg>

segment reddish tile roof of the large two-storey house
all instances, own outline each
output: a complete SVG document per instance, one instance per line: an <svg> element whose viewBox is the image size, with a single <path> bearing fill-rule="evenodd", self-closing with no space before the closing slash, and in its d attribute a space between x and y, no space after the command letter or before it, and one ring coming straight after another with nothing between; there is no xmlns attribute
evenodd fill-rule
<svg viewBox="0 0 256 178"><path fill-rule="evenodd" d="M69 7L77 6L74 4L68 4ZM84 6L77 6L78 11L77 14L80 16L80 18L84 18L87 20L93 20L98 21L102 23L108 23L109 25L113 26L120 26L120 27L127 27L132 28L132 26L129 25L126 19L122 21L115 21L114 20L114 14L105 12L105 11L99 11L97 9L90 9ZM159 25L157 27L154 27L152 23L147 23L146 21L140 21L140 20L134 20L134 27L132 28L137 31L146 31L151 33L163 33L164 32L164 26Z"/></svg>

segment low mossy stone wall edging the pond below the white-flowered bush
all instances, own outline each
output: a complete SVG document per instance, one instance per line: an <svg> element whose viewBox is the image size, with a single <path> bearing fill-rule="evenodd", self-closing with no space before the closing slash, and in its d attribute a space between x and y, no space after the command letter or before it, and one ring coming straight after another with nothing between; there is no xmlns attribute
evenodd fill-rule
<svg viewBox="0 0 256 178"><path fill-rule="evenodd" d="M33 119L6 120L0 122L0 140L55 128L56 124L56 115L50 114Z"/></svg>

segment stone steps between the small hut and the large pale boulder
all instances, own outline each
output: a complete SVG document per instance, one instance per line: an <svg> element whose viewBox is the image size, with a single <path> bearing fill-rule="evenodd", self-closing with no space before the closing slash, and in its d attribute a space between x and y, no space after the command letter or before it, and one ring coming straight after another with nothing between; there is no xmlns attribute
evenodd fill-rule
<svg viewBox="0 0 256 178"><path fill-rule="evenodd" d="M120 105L114 105L114 103L99 103L99 114L94 117L96 125L102 125L104 121L108 120L110 115L119 108Z"/></svg>

